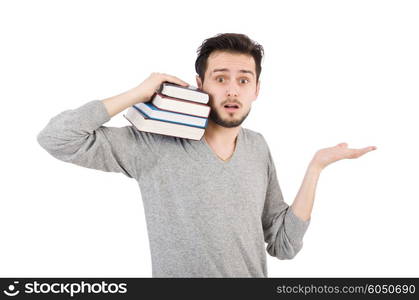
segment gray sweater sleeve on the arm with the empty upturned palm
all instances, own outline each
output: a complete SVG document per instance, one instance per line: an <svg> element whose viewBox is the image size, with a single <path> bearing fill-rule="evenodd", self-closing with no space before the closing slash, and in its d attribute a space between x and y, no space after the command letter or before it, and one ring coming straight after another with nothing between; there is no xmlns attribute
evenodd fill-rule
<svg viewBox="0 0 419 300"><path fill-rule="evenodd" d="M269 255L292 259L303 246L303 236L310 219L303 221L284 202L276 169L268 149L268 187L262 214L262 225Z"/></svg>

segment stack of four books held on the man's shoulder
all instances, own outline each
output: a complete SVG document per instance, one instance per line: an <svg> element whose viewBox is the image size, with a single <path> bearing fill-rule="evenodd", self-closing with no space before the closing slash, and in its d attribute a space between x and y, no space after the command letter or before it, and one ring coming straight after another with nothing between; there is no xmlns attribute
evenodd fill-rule
<svg viewBox="0 0 419 300"><path fill-rule="evenodd" d="M128 108L124 117L138 130L200 140L208 124L209 96L194 86L164 82L148 102Z"/></svg>

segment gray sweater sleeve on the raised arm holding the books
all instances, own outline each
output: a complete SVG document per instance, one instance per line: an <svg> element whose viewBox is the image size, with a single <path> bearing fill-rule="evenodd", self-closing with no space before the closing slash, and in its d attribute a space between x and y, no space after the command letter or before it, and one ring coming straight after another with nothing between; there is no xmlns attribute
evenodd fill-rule
<svg viewBox="0 0 419 300"><path fill-rule="evenodd" d="M155 164L158 135L132 126L102 126L109 120L102 101L90 101L53 117L37 140L59 160L138 179Z"/></svg>

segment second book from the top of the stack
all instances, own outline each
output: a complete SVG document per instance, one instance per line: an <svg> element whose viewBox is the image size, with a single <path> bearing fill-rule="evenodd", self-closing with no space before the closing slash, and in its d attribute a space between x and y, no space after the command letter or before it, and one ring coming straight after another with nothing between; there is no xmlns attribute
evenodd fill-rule
<svg viewBox="0 0 419 300"><path fill-rule="evenodd" d="M211 107L207 104L172 98L163 94L155 94L151 102L158 109L204 118L208 118L211 110Z"/></svg>

